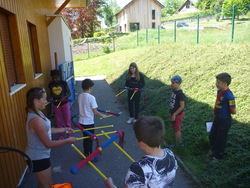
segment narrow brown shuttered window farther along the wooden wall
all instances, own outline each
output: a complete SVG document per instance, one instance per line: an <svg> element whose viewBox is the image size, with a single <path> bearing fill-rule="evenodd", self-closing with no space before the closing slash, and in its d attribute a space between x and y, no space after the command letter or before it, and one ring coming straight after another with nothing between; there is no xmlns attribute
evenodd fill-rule
<svg viewBox="0 0 250 188"><path fill-rule="evenodd" d="M42 72L36 26L27 22L34 76Z"/></svg>

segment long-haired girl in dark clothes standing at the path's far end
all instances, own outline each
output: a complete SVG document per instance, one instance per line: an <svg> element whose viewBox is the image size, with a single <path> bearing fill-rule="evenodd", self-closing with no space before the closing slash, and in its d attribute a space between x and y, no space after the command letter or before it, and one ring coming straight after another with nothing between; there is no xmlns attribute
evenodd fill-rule
<svg viewBox="0 0 250 188"><path fill-rule="evenodd" d="M145 82L142 73L139 72L136 63L131 63L129 65L125 87L142 89L144 85ZM128 90L128 108L130 118L127 123L134 123L139 117L141 91L137 91L131 100L133 94L134 90Z"/></svg>

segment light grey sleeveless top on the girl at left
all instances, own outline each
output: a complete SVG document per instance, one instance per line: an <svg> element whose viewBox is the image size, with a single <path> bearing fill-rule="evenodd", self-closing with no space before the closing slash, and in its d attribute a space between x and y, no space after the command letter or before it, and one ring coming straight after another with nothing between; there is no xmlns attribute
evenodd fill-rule
<svg viewBox="0 0 250 188"><path fill-rule="evenodd" d="M40 112L42 115L43 113ZM43 115L44 116L44 115ZM50 150L46 148L41 140L38 138L35 132L31 132L29 129L29 123L34 118L41 118L35 113L28 113L27 122L26 122L26 133L28 136L28 146L26 150L26 154L31 158L31 160L40 160L50 158ZM45 117L45 116L44 116ZM41 118L44 121L46 131L51 139L51 122L49 119L45 117L45 119Z"/></svg>

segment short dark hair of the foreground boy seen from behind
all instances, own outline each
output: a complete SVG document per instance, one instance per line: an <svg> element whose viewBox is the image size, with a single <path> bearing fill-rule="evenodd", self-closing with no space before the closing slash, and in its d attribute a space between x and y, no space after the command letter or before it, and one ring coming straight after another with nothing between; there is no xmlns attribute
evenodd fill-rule
<svg viewBox="0 0 250 188"><path fill-rule="evenodd" d="M135 137L149 147L159 147L165 135L165 125L161 118L147 116L139 118L133 125Z"/></svg>

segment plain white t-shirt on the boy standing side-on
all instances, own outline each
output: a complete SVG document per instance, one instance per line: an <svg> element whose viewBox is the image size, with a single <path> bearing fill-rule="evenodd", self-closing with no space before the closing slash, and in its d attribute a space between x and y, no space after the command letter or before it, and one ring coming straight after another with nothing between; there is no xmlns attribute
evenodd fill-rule
<svg viewBox="0 0 250 188"><path fill-rule="evenodd" d="M83 125L94 124L93 109L97 108L96 99L89 93L82 92L78 97L79 123Z"/></svg>

